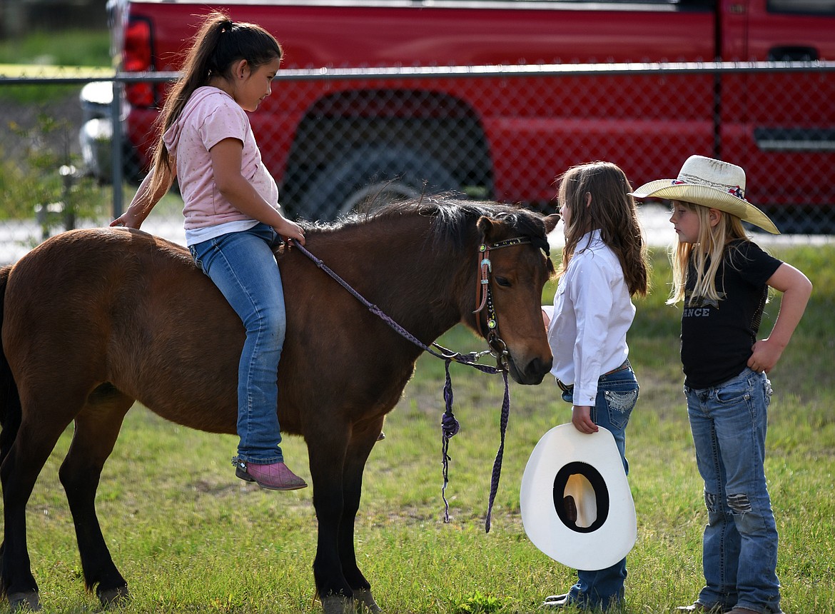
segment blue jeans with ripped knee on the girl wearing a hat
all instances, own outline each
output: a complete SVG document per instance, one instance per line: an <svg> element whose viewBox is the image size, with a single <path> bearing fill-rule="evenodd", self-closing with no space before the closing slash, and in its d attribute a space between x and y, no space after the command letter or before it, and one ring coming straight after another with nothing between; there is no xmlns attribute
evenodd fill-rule
<svg viewBox="0 0 835 614"><path fill-rule="evenodd" d="M699 601L779 612L777 525L764 469L772 385L746 368L713 388L684 392L708 518Z"/></svg>

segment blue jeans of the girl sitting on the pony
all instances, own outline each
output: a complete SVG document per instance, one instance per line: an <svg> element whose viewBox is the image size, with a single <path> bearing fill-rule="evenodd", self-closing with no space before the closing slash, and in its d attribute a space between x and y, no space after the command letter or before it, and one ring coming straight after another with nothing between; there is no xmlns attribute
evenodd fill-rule
<svg viewBox="0 0 835 614"><path fill-rule="evenodd" d="M272 246L278 235L266 224L229 232L190 246L246 329L238 364L238 456L254 464L282 462L278 424L278 362L286 312L281 273Z"/></svg>

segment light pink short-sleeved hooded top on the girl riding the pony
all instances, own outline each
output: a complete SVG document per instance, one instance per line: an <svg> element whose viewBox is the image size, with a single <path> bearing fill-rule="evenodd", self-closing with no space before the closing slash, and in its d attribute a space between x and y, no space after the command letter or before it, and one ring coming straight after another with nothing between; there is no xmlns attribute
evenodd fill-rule
<svg viewBox="0 0 835 614"><path fill-rule="evenodd" d="M261 162L246 112L222 89L205 86L195 89L180 117L163 136L165 147L176 160L186 231L252 220L235 209L215 184L209 150L229 138L244 145L241 175L276 211L279 209L276 180Z"/></svg>

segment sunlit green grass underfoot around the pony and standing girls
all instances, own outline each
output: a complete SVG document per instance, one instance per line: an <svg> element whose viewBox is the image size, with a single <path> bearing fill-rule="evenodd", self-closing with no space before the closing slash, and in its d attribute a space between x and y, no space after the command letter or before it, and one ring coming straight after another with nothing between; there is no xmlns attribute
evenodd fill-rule
<svg viewBox="0 0 835 614"><path fill-rule="evenodd" d="M772 373L767 476L781 535L778 575L787 612L835 611L835 247L775 251L802 269L815 292L801 326ZM655 255L655 292L638 302L630 359L641 398L627 436L638 541L629 556L627 612L668 612L701 588L706 512L681 393L678 318L664 305L669 277ZM550 300L553 287L545 292ZM778 297L767 307L777 314ZM765 322L763 331L771 326ZM441 342L481 349L453 329ZM443 363L424 356L367 464L357 518L357 557L377 601L390 613L534 612L567 589L574 571L531 545L519 517L519 482L534 444L569 420L553 383L513 385L504 468L483 530L498 448L499 376L453 365L455 414L443 523ZM45 612L94 610L84 594L73 523L57 479L64 435L28 505L28 539ZM311 562L316 519L311 491L273 493L236 480L235 438L163 422L134 408L99 487L104 535L134 600L134 612L318 612ZM306 448L287 438L291 465L309 478Z"/></svg>

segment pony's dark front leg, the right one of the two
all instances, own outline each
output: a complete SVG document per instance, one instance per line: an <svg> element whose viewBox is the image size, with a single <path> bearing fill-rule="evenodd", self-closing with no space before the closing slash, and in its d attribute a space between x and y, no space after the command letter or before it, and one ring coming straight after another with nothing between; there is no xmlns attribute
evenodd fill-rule
<svg viewBox="0 0 835 614"><path fill-rule="evenodd" d="M354 527L362 496L362 474L365 471L368 454L371 454L374 444L377 443L377 436L381 429L382 419L378 424L372 424L363 432L355 431L351 444L348 446L345 469L342 472L345 498L342 524L339 530L339 557L342 560L342 574L351 585L355 601L362 604L366 611L374 613L382 612L382 608L377 606L377 601L374 601L371 584L357 566Z"/></svg>

